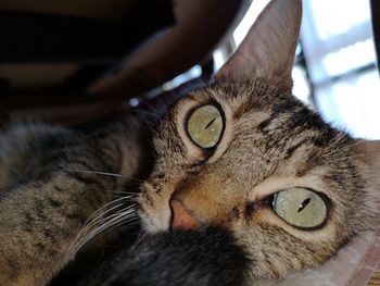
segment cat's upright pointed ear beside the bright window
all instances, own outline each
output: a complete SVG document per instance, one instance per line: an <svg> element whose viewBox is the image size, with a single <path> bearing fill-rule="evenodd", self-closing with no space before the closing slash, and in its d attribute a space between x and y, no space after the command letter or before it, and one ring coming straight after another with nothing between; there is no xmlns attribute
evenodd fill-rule
<svg viewBox="0 0 380 286"><path fill-rule="evenodd" d="M216 80L264 77L290 88L301 18L302 0L270 1L238 50L215 75Z"/></svg>

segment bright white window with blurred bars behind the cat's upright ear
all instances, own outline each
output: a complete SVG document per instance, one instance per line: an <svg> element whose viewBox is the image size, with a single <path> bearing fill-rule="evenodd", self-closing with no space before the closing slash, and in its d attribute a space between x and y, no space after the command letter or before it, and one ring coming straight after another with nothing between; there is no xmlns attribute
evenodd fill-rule
<svg viewBox="0 0 380 286"><path fill-rule="evenodd" d="M301 40L316 109L355 137L380 138L369 0L303 2Z"/></svg>

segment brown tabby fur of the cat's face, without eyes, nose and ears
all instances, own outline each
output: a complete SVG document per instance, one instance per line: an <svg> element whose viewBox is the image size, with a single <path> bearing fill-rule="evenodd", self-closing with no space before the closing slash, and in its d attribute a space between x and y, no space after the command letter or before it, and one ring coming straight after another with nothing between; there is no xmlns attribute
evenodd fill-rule
<svg viewBox="0 0 380 286"><path fill-rule="evenodd" d="M194 167L204 154L181 137L180 124L173 130L173 123L206 102L221 107L226 130L230 127L231 133L224 135L219 152L216 149ZM154 145L160 163L151 175L154 183L144 183L140 200L144 228L168 229L168 201L178 200L202 224L231 229L257 261L252 265L255 277L315 265L333 256L354 233L368 229L367 222L375 223L367 212L370 188L352 158L355 140L264 79L218 85L182 99L161 121ZM159 179L157 174L165 177ZM296 229L263 203L264 197L293 186L330 198L324 227Z"/></svg>

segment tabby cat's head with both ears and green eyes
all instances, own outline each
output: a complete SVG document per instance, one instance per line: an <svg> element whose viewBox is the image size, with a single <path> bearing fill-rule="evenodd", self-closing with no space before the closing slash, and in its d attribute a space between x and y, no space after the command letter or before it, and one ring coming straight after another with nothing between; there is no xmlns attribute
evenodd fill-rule
<svg viewBox="0 0 380 286"><path fill-rule="evenodd" d="M330 127L291 95L301 10L271 1L215 83L167 111L141 186L147 232L225 227L253 276L317 264L379 225L379 144Z"/></svg>

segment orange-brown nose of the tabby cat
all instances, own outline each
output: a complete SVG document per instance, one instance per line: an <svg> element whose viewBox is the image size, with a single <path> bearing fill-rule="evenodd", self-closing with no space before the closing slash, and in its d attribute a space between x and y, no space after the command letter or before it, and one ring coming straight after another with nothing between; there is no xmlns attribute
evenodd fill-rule
<svg viewBox="0 0 380 286"><path fill-rule="evenodd" d="M190 231L200 228L200 222L191 216L189 211L185 209L180 201L172 199L169 204L172 209L170 227L173 229Z"/></svg>

